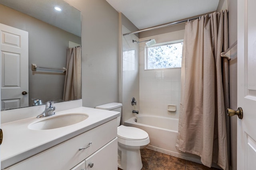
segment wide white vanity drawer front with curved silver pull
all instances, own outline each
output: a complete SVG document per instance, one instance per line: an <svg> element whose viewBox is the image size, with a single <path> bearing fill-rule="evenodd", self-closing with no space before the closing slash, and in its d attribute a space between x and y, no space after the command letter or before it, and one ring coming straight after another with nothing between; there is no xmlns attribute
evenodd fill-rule
<svg viewBox="0 0 256 170"><path fill-rule="evenodd" d="M14 164L6 168L6 170L71 169L116 137L116 119L108 121L55 147ZM90 142L92 144L89 146ZM79 150L80 148L86 149ZM108 159L108 157L105 159Z"/></svg>

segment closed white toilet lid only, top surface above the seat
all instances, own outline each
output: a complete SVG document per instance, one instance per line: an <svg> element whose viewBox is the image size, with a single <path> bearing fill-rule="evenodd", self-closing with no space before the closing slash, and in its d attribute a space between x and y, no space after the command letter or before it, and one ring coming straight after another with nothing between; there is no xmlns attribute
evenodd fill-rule
<svg viewBox="0 0 256 170"><path fill-rule="evenodd" d="M128 140L144 140L148 138L148 133L136 127L120 125L117 127L117 136Z"/></svg>

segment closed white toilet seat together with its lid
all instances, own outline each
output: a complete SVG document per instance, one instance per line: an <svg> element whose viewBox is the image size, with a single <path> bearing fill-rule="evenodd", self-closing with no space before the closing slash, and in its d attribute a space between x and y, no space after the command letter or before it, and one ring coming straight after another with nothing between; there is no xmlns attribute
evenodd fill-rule
<svg viewBox="0 0 256 170"><path fill-rule="evenodd" d="M136 127L120 125L117 127L118 142L128 146L144 146L149 144L148 133Z"/></svg>

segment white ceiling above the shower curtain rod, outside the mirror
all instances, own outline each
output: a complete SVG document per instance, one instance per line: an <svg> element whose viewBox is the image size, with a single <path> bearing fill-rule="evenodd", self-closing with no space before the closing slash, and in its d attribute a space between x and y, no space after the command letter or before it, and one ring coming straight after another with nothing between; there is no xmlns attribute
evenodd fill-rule
<svg viewBox="0 0 256 170"><path fill-rule="evenodd" d="M219 0L106 0L138 29L216 11Z"/></svg>

